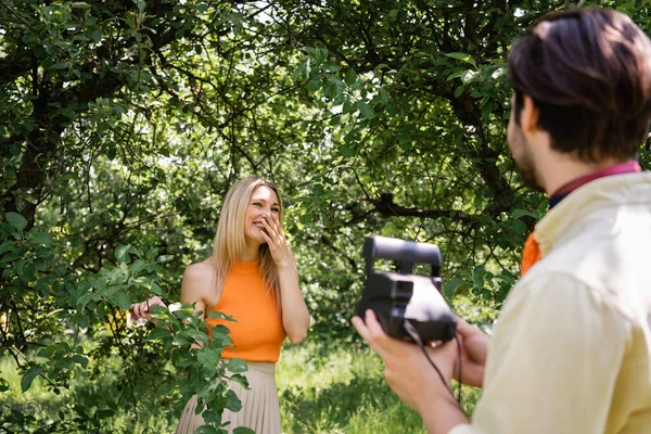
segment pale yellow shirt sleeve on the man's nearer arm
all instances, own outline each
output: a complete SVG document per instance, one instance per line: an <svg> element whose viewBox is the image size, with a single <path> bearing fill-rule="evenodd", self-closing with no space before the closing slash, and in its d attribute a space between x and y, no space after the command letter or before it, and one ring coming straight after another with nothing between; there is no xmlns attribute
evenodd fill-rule
<svg viewBox="0 0 651 434"><path fill-rule="evenodd" d="M472 427L454 434L603 433L629 332L571 276L521 282L494 328Z"/></svg>

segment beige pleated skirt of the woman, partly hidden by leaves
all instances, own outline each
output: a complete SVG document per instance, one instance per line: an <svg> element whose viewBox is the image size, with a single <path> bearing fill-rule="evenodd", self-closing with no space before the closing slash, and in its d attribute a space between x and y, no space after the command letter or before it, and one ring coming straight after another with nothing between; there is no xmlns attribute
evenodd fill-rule
<svg viewBox="0 0 651 434"><path fill-rule="evenodd" d="M221 421L229 421L227 426L231 433L238 426L246 426L256 434L280 434L280 406L276 387L276 363L265 361L247 361L248 371L244 373L251 390L246 391L240 383L229 381L229 387L242 401L238 412L224 410ZM204 424L201 413L195 414L196 396L190 398L176 429L176 434L192 434Z"/></svg>

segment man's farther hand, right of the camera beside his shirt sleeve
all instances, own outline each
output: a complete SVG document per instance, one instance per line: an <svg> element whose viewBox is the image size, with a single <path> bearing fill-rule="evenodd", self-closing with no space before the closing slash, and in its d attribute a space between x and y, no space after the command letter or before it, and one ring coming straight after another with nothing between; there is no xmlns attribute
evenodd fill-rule
<svg viewBox="0 0 651 434"><path fill-rule="evenodd" d="M459 317L457 317L457 336L461 344L461 381L469 386L482 387L489 337ZM458 369L455 368L455 375L457 372Z"/></svg>

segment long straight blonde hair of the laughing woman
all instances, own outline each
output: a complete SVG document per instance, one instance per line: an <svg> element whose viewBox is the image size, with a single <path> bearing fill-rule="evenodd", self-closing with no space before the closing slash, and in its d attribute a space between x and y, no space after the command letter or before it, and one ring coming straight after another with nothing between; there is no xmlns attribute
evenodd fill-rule
<svg viewBox="0 0 651 434"><path fill-rule="evenodd" d="M217 224L213 260L215 264L215 290L221 294L226 276L231 267L242 256L246 248L245 218L246 209L251 203L253 192L258 187L271 189L278 197L278 220L282 227L282 200L276 184L258 177L247 177L237 181L226 193L221 205L221 215ZM278 269L269 252L269 246L264 243L259 250L260 272L267 286L267 292L273 296L280 312L280 283Z"/></svg>

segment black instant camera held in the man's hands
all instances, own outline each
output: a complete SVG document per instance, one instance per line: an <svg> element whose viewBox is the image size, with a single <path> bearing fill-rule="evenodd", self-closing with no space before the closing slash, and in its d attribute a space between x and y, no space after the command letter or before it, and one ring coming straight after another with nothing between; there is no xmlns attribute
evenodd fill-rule
<svg viewBox="0 0 651 434"><path fill-rule="evenodd" d="M437 245L367 237L363 257L367 281L355 315L363 318L366 310L372 309L384 332L399 340L414 341L406 321L411 323L412 332L416 329L422 342L446 342L455 337L457 320L441 295L441 251ZM393 260L397 272L375 270L378 259ZM412 275L416 264L430 264L432 276Z"/></svg>

